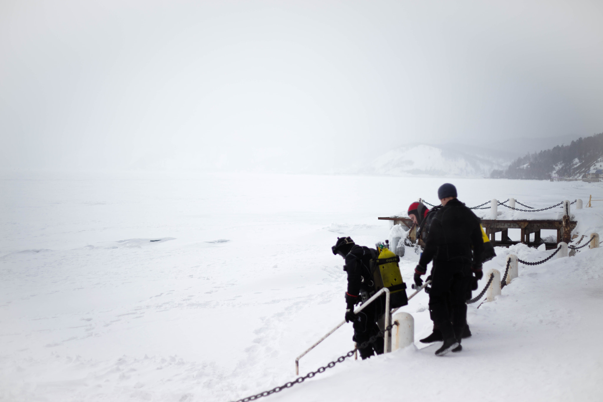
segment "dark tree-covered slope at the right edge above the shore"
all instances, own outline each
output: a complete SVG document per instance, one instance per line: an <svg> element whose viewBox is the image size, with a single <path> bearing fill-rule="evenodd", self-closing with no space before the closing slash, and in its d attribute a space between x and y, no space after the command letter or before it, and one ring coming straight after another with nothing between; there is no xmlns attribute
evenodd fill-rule
<svg viewBox="0 0 603 402"><path fill-rule="evenodd" d="M494 170L492 178L549 180L551 177L581 178L603 157L603 133L579 138L570 145L535 152L514 160L506 171Z"/></svg>

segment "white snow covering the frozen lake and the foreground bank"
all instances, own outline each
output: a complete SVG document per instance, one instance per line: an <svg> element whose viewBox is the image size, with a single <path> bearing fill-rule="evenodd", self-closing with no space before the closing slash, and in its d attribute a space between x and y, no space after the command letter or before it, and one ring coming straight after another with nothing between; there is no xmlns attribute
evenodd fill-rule
<svg viewBox="0 0 603 402"><path fill-rule="evenodd" d="M603 198L601 184L581 182L4 175L0 400L229 401L282 385L295 378L295 356L343 319L336 237L385 240L389 222L377 216L437 201L444 181L469 206ZM603 232L603 203L572 213L579 234ZM508 253L551 253L496 251L486 270L503 271ZM437 344L417 342L267 400L602 400L602 253L520 265L501 297L469 307L473 336L461 353L435 357ZM407 248L409 283L417 260ZM420 294L402 309L415 339L431 330L427 303ZM351 337L347 324L301 360L301 373L349 351Z"/></svg>

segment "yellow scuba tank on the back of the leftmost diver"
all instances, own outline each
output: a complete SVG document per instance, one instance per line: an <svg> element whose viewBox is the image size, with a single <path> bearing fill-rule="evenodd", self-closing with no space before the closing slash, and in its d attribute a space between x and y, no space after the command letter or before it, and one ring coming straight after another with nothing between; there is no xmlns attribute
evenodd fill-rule
<svg viewBox="0 0 603 402"><path fill-rule="evenodd" d="M377 243L377 253L379 256L372 261L375 291L387 287L390 289L390 307L406 306L408 298L406 297L406 283L402 280L398 265L400 257L396 256L390 251L388 245L383 243Z"/></svg>

